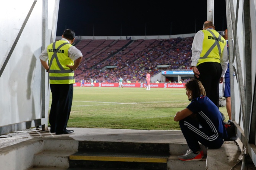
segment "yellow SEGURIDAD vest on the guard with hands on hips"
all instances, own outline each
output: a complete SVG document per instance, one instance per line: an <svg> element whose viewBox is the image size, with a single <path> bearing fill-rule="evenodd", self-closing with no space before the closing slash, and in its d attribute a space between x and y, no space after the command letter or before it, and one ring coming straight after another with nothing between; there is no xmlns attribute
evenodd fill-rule
<svg viewBox="0 0 256 170"><path fill-rule="evenodd" d="M50 84L75 83L74 71L66 67L66 65L74 65L74 61L68 57L68 49L71 46L65 40L59 40L48 45Z"/></svg>

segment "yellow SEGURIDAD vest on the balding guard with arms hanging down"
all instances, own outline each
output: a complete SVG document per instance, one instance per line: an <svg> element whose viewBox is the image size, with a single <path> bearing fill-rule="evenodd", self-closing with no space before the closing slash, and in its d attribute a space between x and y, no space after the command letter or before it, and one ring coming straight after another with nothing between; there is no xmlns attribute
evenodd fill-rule
<svg viewBox="0 0 256 170"><path fill-rule="evenodd" d="M203 50L196 66L205 62L220 63L220 56L226 46L226 40L214 29L202 31L204 33Z"/></svg>

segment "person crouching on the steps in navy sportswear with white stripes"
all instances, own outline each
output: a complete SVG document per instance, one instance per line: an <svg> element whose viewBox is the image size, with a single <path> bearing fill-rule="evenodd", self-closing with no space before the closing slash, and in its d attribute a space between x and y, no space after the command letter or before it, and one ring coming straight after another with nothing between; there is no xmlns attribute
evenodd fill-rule
<svg viewBox="0 0 256 170"><path fill-rule="evenodd" d="M227 132L219 108L206 96L202 83L193 79L186 82L185 87L191 103L177 112L174 120L179 121L190 150L178 159L202 160L203 151L199 142L208 148L220 148Z"/></svg>

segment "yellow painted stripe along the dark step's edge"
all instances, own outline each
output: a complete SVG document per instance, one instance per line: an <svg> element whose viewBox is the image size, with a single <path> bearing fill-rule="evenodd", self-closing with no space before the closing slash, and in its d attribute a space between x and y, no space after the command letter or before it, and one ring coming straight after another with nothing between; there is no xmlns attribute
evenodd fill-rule
<svg viewBox="0 0 256 170"><path fill-rule="evenodd" d="M167 163L167 158L140 158L140 157L100 157L100 156L75 156L71 155L70 160L97 160L97 161L119 161L119 162L153 162Z"/></svg>

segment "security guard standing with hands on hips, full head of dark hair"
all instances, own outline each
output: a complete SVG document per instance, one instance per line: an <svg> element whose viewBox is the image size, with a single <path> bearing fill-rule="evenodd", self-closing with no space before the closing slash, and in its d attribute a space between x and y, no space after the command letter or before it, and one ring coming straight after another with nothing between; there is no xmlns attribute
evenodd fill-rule
<svg viewBox="0 0 256 170"><path fill-rule="evenodd" d="M62 39L48 45L39 56L42 66L50 77L52 105L49 123L50 132L56 135L74 132L74 130L67 130L66 127L73 100L74 71L83 58L81 51L71 45L74 40L75 32L66 29Z"/></svg>

